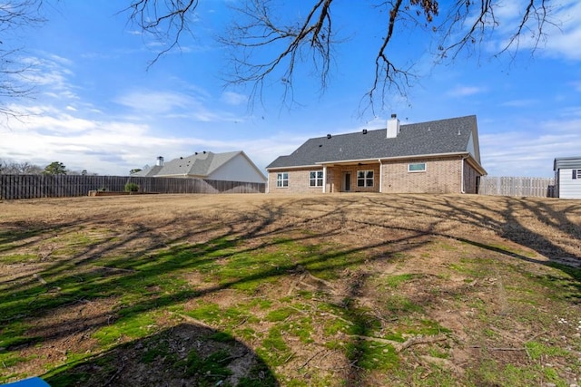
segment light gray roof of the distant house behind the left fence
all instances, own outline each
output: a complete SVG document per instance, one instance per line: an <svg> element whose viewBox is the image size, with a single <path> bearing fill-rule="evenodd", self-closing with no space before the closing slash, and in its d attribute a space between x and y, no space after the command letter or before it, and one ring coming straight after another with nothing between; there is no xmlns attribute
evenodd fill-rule
<svg viewBox="0 0 581 387"><path fill-rule="evenodd" d="M188 157L180 157L166 161L162 166L143 169L133 176L194 176L207 177L219 169L227 161L241 154L241 150L213 153L210 151L195 152Z"/></svg>

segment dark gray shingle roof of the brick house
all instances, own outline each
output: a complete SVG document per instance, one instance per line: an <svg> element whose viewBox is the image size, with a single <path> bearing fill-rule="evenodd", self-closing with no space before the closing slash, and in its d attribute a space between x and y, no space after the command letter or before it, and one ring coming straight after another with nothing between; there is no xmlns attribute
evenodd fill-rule
<svg viewBox="0 0 581 387"><path fill-rule="evenodd" d="M470 152L480 164L476 116L400 125L396 138L387 129L358 131L307 140L288 156L280 156L267 169L312 166L324 162L374 160L445 153ZM472 153L472 152L471 152Z"/></svg>

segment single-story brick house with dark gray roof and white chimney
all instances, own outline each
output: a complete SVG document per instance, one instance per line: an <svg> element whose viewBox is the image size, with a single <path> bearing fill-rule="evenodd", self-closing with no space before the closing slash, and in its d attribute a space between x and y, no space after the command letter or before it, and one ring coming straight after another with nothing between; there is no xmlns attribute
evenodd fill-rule
<svg viewBox="0 0 581 387"><path fill-rule="evenodd" d="M476 116L307 140L266 168L270 193L478 193Z"/></svg>

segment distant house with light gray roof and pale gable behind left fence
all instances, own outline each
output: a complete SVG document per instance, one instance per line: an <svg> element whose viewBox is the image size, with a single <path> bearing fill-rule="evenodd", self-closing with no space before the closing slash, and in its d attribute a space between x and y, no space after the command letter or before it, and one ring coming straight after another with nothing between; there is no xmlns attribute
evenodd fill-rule
<svg viewBox="0 0 581 387"><path fill-rule="evenodd" d="M266 183L261 170L241 150L225 153L204 150L167 162L160 156L155 166L140 170L131 176Z"/></svg>

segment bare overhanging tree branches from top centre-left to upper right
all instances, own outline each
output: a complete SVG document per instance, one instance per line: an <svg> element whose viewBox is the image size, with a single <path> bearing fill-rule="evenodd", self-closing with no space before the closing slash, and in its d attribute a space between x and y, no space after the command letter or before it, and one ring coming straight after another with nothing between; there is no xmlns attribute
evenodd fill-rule
<svg viewBox="0 0 581 387"><path fill-rule="evenodd" d="M237 15L227 34L219 38L231 48L231 72L228 82L250 84L254 97L261 96L267 80L280 81L284 85L284 98L292 98L292 85L297 67L308 63L317 74L322 90L329 82L330 65L333 63L333 47L342 40L332 23L332 9L352 6L350 2L334 0L310 0L309 12L295 20L288 15L281 17L276 0L243 0L234 7ZM435 43L438 61L456 59L458 53L475 52L480 45L491 40L499 26L496 13L502 6L498 0L455 0L446 2L440 9L438 0L376 0L374 6L386 15L384 34L379 40L375 55L374 77L365 94L369 105L379 99L385 102L387 93L395 88L404 94L415 77L409 64L396 63L389 51L390 43L398 37L402 26L422 30L426 39ZM505 53L518 48L523 34L534 40L534 47L545 38L545 26L549 21L549 0L527 0L520 20L504 47ZM167 40L166 49L160 55L179 46L184 33L195 35L189 18L195 15L198 0L132 0L128 9L131 19L143 31ZM350 21L357 27L363 21ZM379 97L379 98L378 98Z"/></svg>

